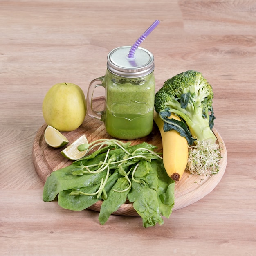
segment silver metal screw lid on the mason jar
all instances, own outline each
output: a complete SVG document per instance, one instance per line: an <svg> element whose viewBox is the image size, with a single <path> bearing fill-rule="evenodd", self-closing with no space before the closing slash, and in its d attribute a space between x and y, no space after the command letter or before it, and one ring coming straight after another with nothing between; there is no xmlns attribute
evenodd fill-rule
<svg viewBox="0 0 256 256"><path fill-rule="evenodd" d="M153 72L154 56L147 49L138 47L134 58L128 58L130 46L113 49L107 58L107 68L110 72L123 77L141 77Z"/></svg>

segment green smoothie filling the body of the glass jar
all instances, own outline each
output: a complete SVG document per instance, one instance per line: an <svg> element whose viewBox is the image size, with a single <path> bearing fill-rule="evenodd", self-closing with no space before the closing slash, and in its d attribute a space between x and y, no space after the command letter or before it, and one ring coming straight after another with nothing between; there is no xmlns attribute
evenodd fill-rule
<svg viewBox="0 0 256 256"><path fill-rule="evenodd" d="M153 127L153 72L140 78L124 78L107 71L105 83L104 122L108 134L126 140L148 135Z"/></svg>

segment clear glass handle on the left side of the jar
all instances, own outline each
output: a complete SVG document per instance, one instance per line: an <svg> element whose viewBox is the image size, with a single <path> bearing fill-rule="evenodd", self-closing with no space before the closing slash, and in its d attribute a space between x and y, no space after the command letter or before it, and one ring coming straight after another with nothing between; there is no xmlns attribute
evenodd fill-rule
<svg viewBox="0 0 256 256"><path fill-rule="evenodd" d="M88 91L87 91L87 97L86 97L86 104L87 104L87 113L90 117L93 117L95 119L99 119L102 121L103 119L103 111L95 111L92 108L92 98L93 98L93 92L94 89L98 86L103 86L105 88L105 85L102 83L104 79L104 76L101 76L99 78L96 78L92 80L89 84ZM100 82L100 84L99 84Z"/></svg>

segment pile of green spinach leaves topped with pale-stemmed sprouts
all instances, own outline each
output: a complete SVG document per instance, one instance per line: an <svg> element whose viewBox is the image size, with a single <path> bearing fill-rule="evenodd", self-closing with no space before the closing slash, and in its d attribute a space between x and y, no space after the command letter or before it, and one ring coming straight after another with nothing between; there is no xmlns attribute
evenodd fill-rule
<svg viewBox="0 0 256 256"><path fill-rule="evenodd" d="M82 144L79 150L91 145ZM58 195L58 204L73 211L103 200L99 212L103 225L128 199L144 227L162 225L162 216L169 218L172 212L175 183L166 174L162 157L154 152L156 147L146 142L130 146L117 140L97 141L96 145L100 147L92 154L51 173L43 200L49 202Z"/></svg>

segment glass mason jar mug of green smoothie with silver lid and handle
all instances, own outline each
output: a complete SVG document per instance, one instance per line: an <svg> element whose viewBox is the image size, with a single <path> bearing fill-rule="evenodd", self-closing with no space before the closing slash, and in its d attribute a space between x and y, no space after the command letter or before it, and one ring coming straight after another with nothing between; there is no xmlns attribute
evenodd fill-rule
<svg viewBox="0 0 256 256"><path fill-rule="evenodd" d="M92 80L87 92L88 115L103 121L112 137L126 140L150 134L155 97L153 54L138 47L135 58L129 59L126 58L129 49L129 46L118 47L108 54L105 76ZM92 109L97 86L105 88L105 106L101 112Z"/></svg>

